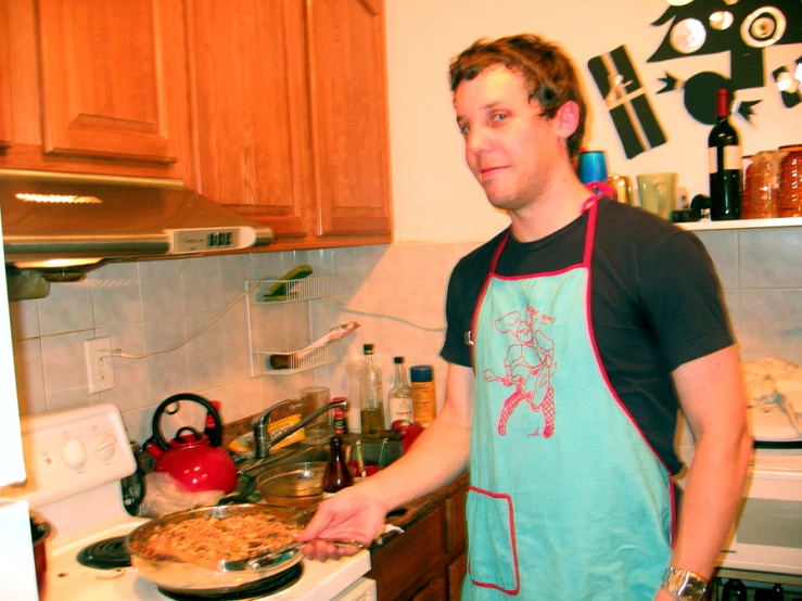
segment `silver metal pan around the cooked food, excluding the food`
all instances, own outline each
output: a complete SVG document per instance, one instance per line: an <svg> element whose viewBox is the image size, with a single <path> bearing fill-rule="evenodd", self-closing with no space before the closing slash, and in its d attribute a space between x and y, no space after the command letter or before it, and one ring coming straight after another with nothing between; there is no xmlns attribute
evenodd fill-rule
<svg viewBox="0 0 802 601"><path fill-rule="evenodd" d="M145 553L151 536L165 526L198 517L230 517L234 515L272 515L296 527L301 532L311 519L311 511L262 504L231 504L207 507L170 513L152 520L132 530L126 537L126 549L131 554L133 567L143 578L169 591L186 594L225 594L238 587L250 585L280 574L301 560L300 548L290 548L279 553L254 554L235 561L200 563L181 561L173 557L151 558Z"/></svg>

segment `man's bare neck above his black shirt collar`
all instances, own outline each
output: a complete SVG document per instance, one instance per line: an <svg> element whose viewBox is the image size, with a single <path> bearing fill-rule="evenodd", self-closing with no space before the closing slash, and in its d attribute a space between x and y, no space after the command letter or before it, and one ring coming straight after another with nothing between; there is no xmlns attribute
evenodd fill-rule
<svg viewBox="0 0 802 601"><path fill-rule="evenodd" d="M512 235L519 242L540 240L564 228L582 214L593 193L572 172L552 180L529 206L510 212Z"/></svg>

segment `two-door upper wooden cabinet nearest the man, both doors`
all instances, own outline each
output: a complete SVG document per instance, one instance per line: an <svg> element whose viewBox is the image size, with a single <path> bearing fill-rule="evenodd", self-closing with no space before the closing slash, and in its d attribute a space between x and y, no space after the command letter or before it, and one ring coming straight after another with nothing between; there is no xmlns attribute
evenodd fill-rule
<svg viewBox="0 0 802 601"><path fill-rule="evenodd" d="M188 0L199 191L275 250L392 239L379 0Z"/></svg>

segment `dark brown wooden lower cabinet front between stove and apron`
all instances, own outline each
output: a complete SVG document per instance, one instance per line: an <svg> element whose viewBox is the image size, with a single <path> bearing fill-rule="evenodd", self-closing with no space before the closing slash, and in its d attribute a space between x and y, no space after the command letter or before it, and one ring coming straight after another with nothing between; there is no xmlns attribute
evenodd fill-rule
<svg viewBox="0 0 802 601"><path fill-rule="evenodd" d="M367 577L377 580L379 599L396 599L442 561L444 528L444 511L438 507L386 547L373 551Z"/></svg>

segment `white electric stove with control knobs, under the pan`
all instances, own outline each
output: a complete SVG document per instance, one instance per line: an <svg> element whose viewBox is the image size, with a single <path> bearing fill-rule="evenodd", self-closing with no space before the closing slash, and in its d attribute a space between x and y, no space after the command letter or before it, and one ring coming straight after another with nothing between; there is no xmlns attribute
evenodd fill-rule
<svg viewBox="0 0 802 601"><path fill-rule="evenodd" d="M20 496L55 529L42 601L168 601L133 567L96 568L78 561L90 545L124 537L147 522L123 504L119 481L133 473L136 463L117 407L34 414L23 419L22 432L28 482ZM303 560L301 566L294 584L249 599L374 599L343 593L370 570L368 551L326 563Z"/></svg>

